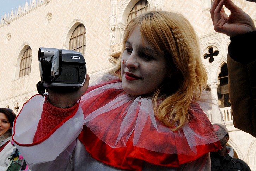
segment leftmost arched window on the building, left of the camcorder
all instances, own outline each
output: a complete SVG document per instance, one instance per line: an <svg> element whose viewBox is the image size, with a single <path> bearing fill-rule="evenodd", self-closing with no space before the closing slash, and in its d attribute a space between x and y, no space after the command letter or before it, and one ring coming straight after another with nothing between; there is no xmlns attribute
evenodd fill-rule
<svg viewBox="0 0 256 171"><path fill-rule="evenodd" d="M30 74L32 61L32 49L29 47L23 54L20 61L19 77Z"/></svg>

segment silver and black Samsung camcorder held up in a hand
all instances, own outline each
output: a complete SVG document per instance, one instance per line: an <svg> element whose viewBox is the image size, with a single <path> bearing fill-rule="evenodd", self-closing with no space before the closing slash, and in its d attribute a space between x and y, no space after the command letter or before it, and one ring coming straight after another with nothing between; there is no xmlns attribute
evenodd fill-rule
<svg viewBox="0 0 256 171"><path fill-rule="evenodd" d="M71 90L84 85L86 63L82 53L66 49L39 48L38 61L41 81L37 90Z"/></svg>

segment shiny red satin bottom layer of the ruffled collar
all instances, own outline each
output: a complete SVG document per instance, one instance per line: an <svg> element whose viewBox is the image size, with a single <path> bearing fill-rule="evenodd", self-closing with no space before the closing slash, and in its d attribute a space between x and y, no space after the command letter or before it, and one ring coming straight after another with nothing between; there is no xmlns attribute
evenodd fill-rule
<svg viewBox="0 0 256 171"><path fill-rule="evenodd" d="M161 136L160 134L159 137ZM199 145L196 147L197 155L194 156L158 153L133 146L131 141L127 141L126 147L112 148L97 138L87 126L83 127L78 139L94 159L126 170L142 170L144 162L166 167L180 167L184 163L195 161L209 152L216 151L216 147L221 146L219 141ZM158 137L154 139L158 141Z"/></svg>

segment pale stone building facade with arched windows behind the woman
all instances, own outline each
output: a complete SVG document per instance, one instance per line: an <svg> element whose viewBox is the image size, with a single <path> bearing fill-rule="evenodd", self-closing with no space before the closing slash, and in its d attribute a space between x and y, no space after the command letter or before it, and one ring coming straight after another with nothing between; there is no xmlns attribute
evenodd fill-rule
<svg viewBox="0 0 256 171"><path fill-rule="evenodd" d="M256 23L256 3L234 0ZM106 72L120 55L127 21L147 10L183 14L194 26L208 71L208 86L219 102L236 156L256 171L256 138L234 128L228 98L230 40L213 29L211 0L31 0L0 21L0 107L16 114L37 94L39 47L83 53L89 75ZM1 15L1 14L0 14ZM214 115L208 114L214 122Z"/></svg>

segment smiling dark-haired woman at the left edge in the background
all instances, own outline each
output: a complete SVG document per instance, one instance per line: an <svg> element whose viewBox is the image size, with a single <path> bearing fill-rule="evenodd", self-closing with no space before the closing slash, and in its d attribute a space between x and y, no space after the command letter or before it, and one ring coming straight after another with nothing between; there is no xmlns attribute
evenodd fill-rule
<svg viewBox="0 0 256 171"><path fill-rule="evenodd" d="M5 171L9 164L8 157L15 148L12 139L12 126L16 118L14 112L9 108L0 108L0 171Z"/></svg>

